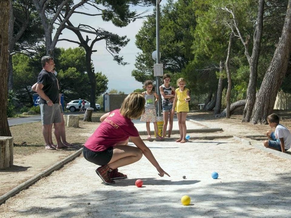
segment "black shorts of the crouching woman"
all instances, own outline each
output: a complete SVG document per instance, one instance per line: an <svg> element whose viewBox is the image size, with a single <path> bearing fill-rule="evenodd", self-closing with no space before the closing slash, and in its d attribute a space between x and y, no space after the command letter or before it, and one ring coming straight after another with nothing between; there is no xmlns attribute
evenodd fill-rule
<svg viewBox="0 0 291 218"><path fill-rule="evenodd" d="M92 151L86 147L83 148L83 156L89 162L95 163L96 165L103 166L109 163L112 158L113 147L109 147L104 151Z"/></svg>

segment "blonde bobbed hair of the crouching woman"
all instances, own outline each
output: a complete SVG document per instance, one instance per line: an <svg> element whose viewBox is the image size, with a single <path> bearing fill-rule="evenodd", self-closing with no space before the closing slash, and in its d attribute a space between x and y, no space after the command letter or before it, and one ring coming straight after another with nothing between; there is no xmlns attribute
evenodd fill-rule
<svg viewBox="0 0 291 218"><path fill-rule="evenodd" d="M129 119L137 119L145 112L145 104L145 97L139 92L133 92L124 99L120 114Z"/></svg>

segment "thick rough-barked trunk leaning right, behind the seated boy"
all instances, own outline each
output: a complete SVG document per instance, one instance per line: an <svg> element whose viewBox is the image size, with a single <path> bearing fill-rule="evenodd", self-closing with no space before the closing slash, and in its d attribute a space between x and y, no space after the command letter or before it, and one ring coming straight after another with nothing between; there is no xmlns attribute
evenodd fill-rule
<svg viewBox="0 0 291 218"><path fill-rule="evenodd" d="M288 1L285 22L273 59L263 78L256 97L251 122L267 124L267 116L272 114L276 95L286 74L291 51L291 0Z"/></svg>

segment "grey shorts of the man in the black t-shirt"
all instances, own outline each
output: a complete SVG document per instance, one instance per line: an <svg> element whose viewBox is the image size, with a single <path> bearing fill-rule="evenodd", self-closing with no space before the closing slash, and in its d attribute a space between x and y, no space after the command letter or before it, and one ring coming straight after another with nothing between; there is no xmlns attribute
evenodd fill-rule
<svg viewBox="0 0 291 218"><path fill-rule="evenodd" d="M39 104L39 107L42 117L42 125L61 122L61 111L59 104L54 104L51 107L47 104Z"/></svg>

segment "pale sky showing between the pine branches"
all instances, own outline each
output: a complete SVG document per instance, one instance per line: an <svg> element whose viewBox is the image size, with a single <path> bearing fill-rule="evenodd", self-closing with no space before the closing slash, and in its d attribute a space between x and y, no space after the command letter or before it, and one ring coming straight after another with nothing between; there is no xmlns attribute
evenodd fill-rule
<svg viewBox="0 0 291 218"><path fill-rule="evenodd" d="M166 3L166 1L164 1L164 3ZM148 13L152 13L153 6L148 8L135 7L134 9L138 12L148 9ZM92 9L83 9L82 11L88 13L92 11ZM135 46L135 35L142 27L143 19L137 19L135 22L132 22L128 26L123 28L115 27L111 22L104 22L101 16L91 17L86 15L74 14L70 18L70 21L75 26L79 25L79 23L82 23L91 25L94 28L104 28L105 30L116 33L120 36L126 35L127 38L130 39L130 41L124 48L121 49L119 54L123 56L123 60L125 62L128 62L129 64L125 66L118 65L115 61L112 60L112 55L106 51L105 42L99 41L95 43L94 47L97 52L94 52L92 54L92 61L95 67L95 71L101 71L102 74L105 74L109 79L108 91L111 89L117 89L118 91L124 91L125 94L129 94L137 88L142 88L142 83L135 81L135 78L131 76L131 71L135 68L135 56L138 52L141 52L141 50L139 50ZM90 38L94 38L94 35L90 36L90 34L87 33L83 35L89 35ZM78 41L78 38L75 36L75 34L67 29L62 32L60 39L61 38L68 38ZM57 43L57 47L74 48L78 47L78 45L68 41L59 41Z"/></svg>

